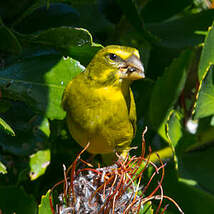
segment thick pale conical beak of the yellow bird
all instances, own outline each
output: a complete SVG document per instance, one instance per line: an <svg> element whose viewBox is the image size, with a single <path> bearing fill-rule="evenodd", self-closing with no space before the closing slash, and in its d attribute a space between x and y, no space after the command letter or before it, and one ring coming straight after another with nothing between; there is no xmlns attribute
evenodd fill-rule
<svg viewBox="0 0 214 214"><path fill-rule="evenodd" d="M145 78L143 65L137 56L132 55L124 61L120 67L120 78L129 80Z"/></svg>

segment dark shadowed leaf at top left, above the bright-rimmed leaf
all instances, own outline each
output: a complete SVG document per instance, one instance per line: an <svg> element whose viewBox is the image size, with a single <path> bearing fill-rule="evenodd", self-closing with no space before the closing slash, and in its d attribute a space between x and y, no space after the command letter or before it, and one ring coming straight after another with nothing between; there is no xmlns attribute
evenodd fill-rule
<svg viewBox="0 0 214 214"><path fill-rule="evenodd" d="M93 15L92 15L93 14ZM114 25L100 12L97 1L51 3L36 8L31 14L15 25L21 33L40 32L50 28L72 26L86 28L96 37L110 35Z"/></svg>

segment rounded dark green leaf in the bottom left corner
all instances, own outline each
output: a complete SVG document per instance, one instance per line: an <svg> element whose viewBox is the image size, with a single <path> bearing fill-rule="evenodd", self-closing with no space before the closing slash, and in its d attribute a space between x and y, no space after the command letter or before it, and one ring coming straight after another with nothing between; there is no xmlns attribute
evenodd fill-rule
<svg viewBox="0 0 214 214"><path fill-rule="evenodd" d="M37 206L32 196L15 186L0 187L0 208L4 214L36 214Z"/></svg>

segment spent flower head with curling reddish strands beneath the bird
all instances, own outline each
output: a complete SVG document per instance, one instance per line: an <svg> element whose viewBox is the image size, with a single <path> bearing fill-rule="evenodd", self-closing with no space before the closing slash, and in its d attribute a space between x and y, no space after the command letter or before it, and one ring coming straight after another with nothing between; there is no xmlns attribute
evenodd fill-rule
<svg viewBox="0 0 214 214"><path fill-rule="evenodd" d="M56 186L63 184L63 192L58 195L58 203L53 203L50 194L50 206L53 214L137 214L143 211L145 205L153 200L158 200L156 213L164 213L163 199L171 201L180 213L183 213L178 204L170 197L163 194L162 182L165 164L159 159L156 166L145 154L145 140L142 135L142 154L140 157L123 159L118 155L118 160L112 166L93 168L90 163L77 156L73 164L66 170L64 166L64 180ZM76 169L79 161L87 165L85 168ZM148 166L154 168L154 173L145 182L144 173ZM147 193L155 175L160 176L157 186ZM145 176L146 177L146 176ZM144 182L142 182L144 181ZM142 183L145 183L142 185ZM151 204L150 204L151 205ZM54 208L55 207L55 208Z"/></svg>

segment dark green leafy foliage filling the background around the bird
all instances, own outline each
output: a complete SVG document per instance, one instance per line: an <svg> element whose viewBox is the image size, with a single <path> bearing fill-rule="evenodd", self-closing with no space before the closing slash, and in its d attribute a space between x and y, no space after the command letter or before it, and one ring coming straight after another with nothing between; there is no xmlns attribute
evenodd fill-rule
<svg viewBox="0 0 214 214"><path fill-rule="evenodd" d="M132 86L133 145L147 126L146 146L168 162L164 194L185 214L213 213L213 20L207 0L1 1L0 213L52 213L48 190L81 150L67 132L63 90L109 44L138 48L145 67Z"/></svg>

